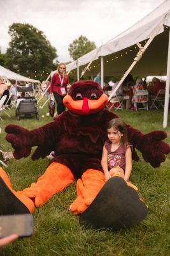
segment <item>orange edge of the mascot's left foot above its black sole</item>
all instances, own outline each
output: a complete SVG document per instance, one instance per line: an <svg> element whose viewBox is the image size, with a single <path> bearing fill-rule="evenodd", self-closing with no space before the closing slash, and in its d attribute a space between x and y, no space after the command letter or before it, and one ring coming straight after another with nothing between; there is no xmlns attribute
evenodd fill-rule
<svg viewBox="0 0 170 256"><path fill-rule="evenodd" d="M35 209L34 202L32 202L32 200L30 198L28 198L27 196L21 195L20 193L14 191L12 189L10 179L9 179L8 175L6 174L6 172L4 172L4 170L1 167L0 167L0 177L4 180L6 186L8 186L8 188L11 190L13 195L15 195L18 198L18 200L20 200L22 202L22 204L24 204L27 207L27 209L29 209L29 211L31 213L34 212L34 209ZM12 207L12 205L11 205L11 207Z"/></svg>

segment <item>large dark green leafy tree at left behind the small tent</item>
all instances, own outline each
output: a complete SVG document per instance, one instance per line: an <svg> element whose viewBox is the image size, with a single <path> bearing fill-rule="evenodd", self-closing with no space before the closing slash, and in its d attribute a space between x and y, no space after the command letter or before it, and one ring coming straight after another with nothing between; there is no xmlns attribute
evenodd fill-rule
<svg viewBox="0 0 170 256"><path fill-rule="evenodd" d="M11 36L6 52L8 68L32 79L46 79L58 56L43 32L30 24L13 23L8 33Z"/></svg>

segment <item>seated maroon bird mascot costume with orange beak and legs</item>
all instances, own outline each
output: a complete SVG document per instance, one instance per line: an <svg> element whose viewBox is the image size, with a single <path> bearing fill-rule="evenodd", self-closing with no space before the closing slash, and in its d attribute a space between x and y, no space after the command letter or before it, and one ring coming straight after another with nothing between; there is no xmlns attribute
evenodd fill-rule
<svg viewBox="0 0 170 256"><path fill-rule="evenodd" d="M27 157L37 146L32 160L46 157L54 151L45 173L23 191L14 191L8 176L0 170L0 214L34 212L77 179L77 198L69 206L80 214L80 224L92 228L131 227L142 221L148 212L137 188L121 177L104 182L101 155L107 139L107 124L115 113L104 109L108 97L94 81L73 83L64 97L68 109L50 124L28 131L18 125L7 125L6 140L11 143L15 159ZM129 142L141 151L143 158L154 168L165 161L170 147L163 142L164 131L143 134L127 125ZM135 149L132 158L138 161Z"/></svg>

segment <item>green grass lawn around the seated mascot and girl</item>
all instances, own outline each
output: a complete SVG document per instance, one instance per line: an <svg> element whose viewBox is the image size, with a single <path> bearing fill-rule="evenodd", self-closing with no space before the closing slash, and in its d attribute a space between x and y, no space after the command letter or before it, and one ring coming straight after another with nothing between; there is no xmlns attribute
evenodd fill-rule
<svg viewBox="0 0 170 256"><path fill-rule="evenodd" d="M0 145L12 150L5 140L4 127L7 124L18 124L27 129L34 129L52 118L46 115L47 106L39 109L40 119L15 119L15 110L9 111L11 118L3 114L0 122L2 132ZM163 110L152 111L117 111L125 122L142 132L162 130ZM167 131L170 134L168 122ZM166 139L170 143L169 137ZM34 150L34 149L33 149ZM169 255L170 250L170 157L159 168L152 168L143 161L133 162L132 182L138 186L139 195L149 207L148 216L139 225L127 230L111 232L108 230L85 230L79 225L78 216L67 211L67 207L76 198L76 182L52 197L43 207L34 212L34 235L18 239L6 248L0 249L2 256L40 256L40 255L106 255L106 256L157 256ZM48 159L31 161L30 157L10 160L9 167L4 168L10 176L14 189L24 189L34 182L46 169ZM0 206L1 207L1 206ZM107 212L106 212L107 214Z"/></svg>

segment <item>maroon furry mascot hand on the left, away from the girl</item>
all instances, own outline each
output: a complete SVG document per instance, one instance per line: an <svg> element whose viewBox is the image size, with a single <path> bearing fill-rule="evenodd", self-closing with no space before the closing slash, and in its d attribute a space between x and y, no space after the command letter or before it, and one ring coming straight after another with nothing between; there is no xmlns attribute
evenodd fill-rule
<svg viewBox="0 0 170 256"><path fill-rule="evenodd" d="M5 131L8 133L6 140L15 149L13 152L15 159L29 156L33 140L31 132L18 125L7 125Z"/></svg>

